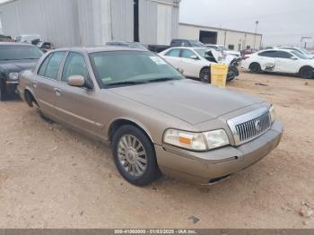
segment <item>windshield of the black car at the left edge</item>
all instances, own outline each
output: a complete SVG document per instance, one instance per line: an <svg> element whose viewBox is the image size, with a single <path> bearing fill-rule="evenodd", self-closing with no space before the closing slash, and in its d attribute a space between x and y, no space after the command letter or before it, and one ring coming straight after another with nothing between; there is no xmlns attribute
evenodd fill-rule
<svg viewBox="0 0 314 235"><path fill-rule="evenodd" d="M39 59L43 52L32 46L0 46L0 60Z"/></svg>

